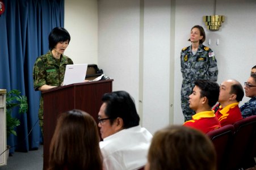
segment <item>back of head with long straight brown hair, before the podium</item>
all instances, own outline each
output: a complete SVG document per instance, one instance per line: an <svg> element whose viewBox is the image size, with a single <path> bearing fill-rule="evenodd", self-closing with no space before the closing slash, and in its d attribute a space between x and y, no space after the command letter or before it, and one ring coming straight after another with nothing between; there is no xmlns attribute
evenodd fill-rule
<svg viewBox="0 0 256 170"><path fill-rule="evenodd" d="M49 169L102 169L98 126L90 114L60 114L50 146Z"/></svg>

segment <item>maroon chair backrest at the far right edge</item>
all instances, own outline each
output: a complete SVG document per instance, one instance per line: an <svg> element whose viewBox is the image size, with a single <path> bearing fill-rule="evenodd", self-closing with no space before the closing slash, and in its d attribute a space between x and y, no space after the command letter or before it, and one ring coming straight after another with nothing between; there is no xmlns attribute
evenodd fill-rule
<svg viewBox="0 0 256 170"><path fill-rule="evenodd" d="M234 124L233 144L227 157L226 169L236 169L244 167L244 160L248 158L253 150L253 143L256 131L256 116L246 117Z"/></svg>

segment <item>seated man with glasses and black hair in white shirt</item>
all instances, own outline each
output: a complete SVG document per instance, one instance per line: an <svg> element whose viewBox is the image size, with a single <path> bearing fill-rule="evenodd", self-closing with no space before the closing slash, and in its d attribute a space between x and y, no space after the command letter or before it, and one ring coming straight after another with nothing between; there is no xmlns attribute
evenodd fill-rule
<svg viewBox="0 0 256 170"><path fill-rule="evenodd" d="M135 103L125 91L104 94L98 113L105 170L139 169L146 164L152 135L139 125Z"/></svg>

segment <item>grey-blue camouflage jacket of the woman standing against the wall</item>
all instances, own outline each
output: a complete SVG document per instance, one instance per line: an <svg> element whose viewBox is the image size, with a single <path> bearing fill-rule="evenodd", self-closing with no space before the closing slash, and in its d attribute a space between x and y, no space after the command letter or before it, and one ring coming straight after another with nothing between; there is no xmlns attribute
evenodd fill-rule
<svg viewBox="0 0 256 170"><path fill-rule="evenodd" d="M217 81L218 68L213 51L200 44L198 51L194 55L192 46L182 49L181 52L181 72L183 84L193 83L196 79L207 79Z"/></svg>

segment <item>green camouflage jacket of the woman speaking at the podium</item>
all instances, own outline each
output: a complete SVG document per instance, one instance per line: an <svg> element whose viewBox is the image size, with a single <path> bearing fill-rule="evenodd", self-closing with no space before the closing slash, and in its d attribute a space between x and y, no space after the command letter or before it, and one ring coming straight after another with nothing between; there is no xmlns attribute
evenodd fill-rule
<svg viewBox="0 0 256 170"><path fill-rule="evenodd" d="M39 87L47 84L49 86L61 86L64 79L66 65L72 65L73 61L62 55L60 64L56 62L52 52L37 57L33 66L33 87L37 91Z"/></svg>

